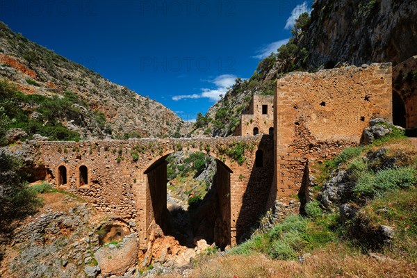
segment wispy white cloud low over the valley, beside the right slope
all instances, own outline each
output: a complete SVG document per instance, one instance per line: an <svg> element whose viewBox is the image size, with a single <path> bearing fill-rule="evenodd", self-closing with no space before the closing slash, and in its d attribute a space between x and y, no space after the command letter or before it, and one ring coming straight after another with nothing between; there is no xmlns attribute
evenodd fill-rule
<svg viewBox="0 0 417 278"><path fill-rule="evenodd" d="M233 74L222 74L217 76L215 79L211 80L210 82L216 85L216 88L202 88L201 94L193 94L193 95L176 95L172 97L174 101L179 101L181 99L201 99L201 98L208 98L210 101L218 101L220 99L220 95L226 94L227 90L231 85L234 85L234 81L237 76Z"/></svg>

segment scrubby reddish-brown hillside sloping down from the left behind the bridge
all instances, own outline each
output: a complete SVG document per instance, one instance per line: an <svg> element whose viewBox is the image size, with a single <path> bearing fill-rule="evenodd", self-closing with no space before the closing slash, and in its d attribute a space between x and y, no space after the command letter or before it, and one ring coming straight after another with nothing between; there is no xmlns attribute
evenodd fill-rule
<svg viewBox="0 0 417 278"><path fill-rule="evenodd" d="M164 137L175 133L178 136L183 125L173 111L157 101L142 97L82 65L54 54L13 33L1 22L0 79L2 82L10 81L8 85L17 86L12 91L23 93L19 96L9 94L16 107L24 111L25 115L19 120L28 122L27 119L42 114L40 106L45 99L58 102L64 99L64 108L75 113L58 113L58 122L54 124L79 133L83 139ZM42 120L43 124L48 120L50 123L47 117L41 117ZM15 126L22 127L19 124ZM27 126L24 127L28 131Z"/></svg>

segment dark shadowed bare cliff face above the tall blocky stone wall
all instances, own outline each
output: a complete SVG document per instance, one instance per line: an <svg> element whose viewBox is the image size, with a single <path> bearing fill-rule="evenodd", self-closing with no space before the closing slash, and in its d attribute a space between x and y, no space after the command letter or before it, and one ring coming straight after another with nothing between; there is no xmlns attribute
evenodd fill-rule
<svg viewBox="0 0 417 278"><path fill-rule="evenodd" d="M316 0L311 25L300 42L310 68L347 62L391 62L417 54L414 0Z"/></svg>

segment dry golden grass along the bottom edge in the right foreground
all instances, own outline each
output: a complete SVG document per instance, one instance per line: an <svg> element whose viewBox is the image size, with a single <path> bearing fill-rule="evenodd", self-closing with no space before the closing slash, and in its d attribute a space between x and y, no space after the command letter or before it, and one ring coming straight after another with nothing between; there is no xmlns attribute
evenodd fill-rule
<svg viewBox="0 0 417 278"><path fill-rule="evenodd" d="M201 263L188 277L417 277L417 263L380 258L332 244L313 252L304 263L275 261L261 254L218 257Z"/></svg>

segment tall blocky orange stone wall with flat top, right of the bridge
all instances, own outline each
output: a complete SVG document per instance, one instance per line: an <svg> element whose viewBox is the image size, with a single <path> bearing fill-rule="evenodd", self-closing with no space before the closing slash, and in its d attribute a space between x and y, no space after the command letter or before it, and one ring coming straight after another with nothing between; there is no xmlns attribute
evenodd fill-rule
<svg viewBox="0 0 417 278"><path fill-rule="evenodd" d="M391 64L295 72L277 81L277 199L297 194L307 159L332 158L359 144L370 119L392 115Z"/></svg>

